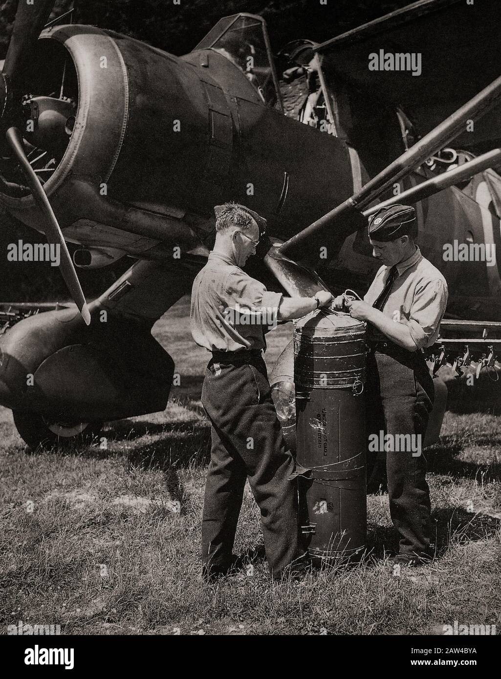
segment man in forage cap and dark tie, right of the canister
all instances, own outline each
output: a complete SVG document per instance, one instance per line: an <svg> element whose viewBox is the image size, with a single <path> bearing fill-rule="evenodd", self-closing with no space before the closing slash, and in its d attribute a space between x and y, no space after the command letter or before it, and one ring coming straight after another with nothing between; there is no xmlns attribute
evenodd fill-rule
<svg viewBox="0 0 501 679"><path fill-rule="evenodd" d="M377 458L381 465L386 451L390 514L400 534L394 563L409 565L430 556L430 491L421 444L434 386L423 349L435 342L447 305L445 278L421 255L416 234L413 207L396 204L371 215L368 237L382 266L364 301L343 295L334 300L336 308L345 304L353 318L367 323L368 490L377 488Z"/></svg>

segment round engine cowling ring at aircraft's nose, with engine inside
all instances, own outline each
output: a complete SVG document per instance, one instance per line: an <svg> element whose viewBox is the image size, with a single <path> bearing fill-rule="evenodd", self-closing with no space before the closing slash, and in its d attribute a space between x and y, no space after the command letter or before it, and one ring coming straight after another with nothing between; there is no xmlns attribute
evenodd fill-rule
<svg viewBox="0 0 501 679"><path fill-rule="evenodd" d="M71 182L85 179L97 189L111 176L126 132L128 88L120 52L92 26L44 31L23 99L22 134L28 157L54 211L73 221ZM121 74L121 77L118 75ZM109 115L113 111L113 115ZM35 160L41 156L39 160ZM18 184L15 166L4 163L0 201L28 225L43 230L31 192Z"/></svg>

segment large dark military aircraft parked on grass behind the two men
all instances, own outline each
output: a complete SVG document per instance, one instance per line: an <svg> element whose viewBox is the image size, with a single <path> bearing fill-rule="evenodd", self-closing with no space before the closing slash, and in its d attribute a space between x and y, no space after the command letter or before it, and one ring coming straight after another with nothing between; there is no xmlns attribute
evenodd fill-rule
<svg viewBox="0 0 501 679"><path fill-rule="evenodd" d="M415 205L450 291L432 367L496 369L501 262L483 253L501 245L498 0L420 0L277 54L264 20L237 14L179 58L46 24L51 5L19 2L0 77L0 202L61 246L80 311L3 314L0 403L31 446L165 409L174 365L150 331L190 292L228 200L268 219L249 272L297 295L363 293L367 215ZM76 268L121 257L136 261L87 306ZM293 393L290 350L274 374Z"/></svg>

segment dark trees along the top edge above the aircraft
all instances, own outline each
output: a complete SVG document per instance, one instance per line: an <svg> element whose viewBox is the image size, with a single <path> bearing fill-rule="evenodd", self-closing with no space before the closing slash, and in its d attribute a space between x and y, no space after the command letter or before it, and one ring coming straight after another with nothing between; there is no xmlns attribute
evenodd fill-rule
<svg viewBox="0 0 501 679"><path fill-rule="evenodd" d="M266 19L275 50L297 38L316 41L353 29L410 0L75 0L74 20L126 33L172 54L186 54L222 16L249 12ZM56 0L52 18L73 0ZM5 54L17 0L0 10L0 54Z"/></svg>

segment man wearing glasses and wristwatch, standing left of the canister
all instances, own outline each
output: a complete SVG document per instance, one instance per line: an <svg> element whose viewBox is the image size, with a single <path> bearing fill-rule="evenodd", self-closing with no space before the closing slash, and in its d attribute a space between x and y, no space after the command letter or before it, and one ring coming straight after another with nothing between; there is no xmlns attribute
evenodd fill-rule
<svg viewBox="0 0 501 679"><path fill-rule="evenodd" d="M273 578L290 574L300 579L307 562L298 541L294 459L271 398L262 358L264 331L271 315L275 320L300 318L328 306L332 295L319 291L315 297L283 297L267 291L242 270L256 253L266 219L234 203L216 206L214 213L214 249L194 280L190 314L194 341L212 353L202 388L202 404L211 420L202 576L213 581L235 566L232 549L248 478L261 511Z"/></svg>

